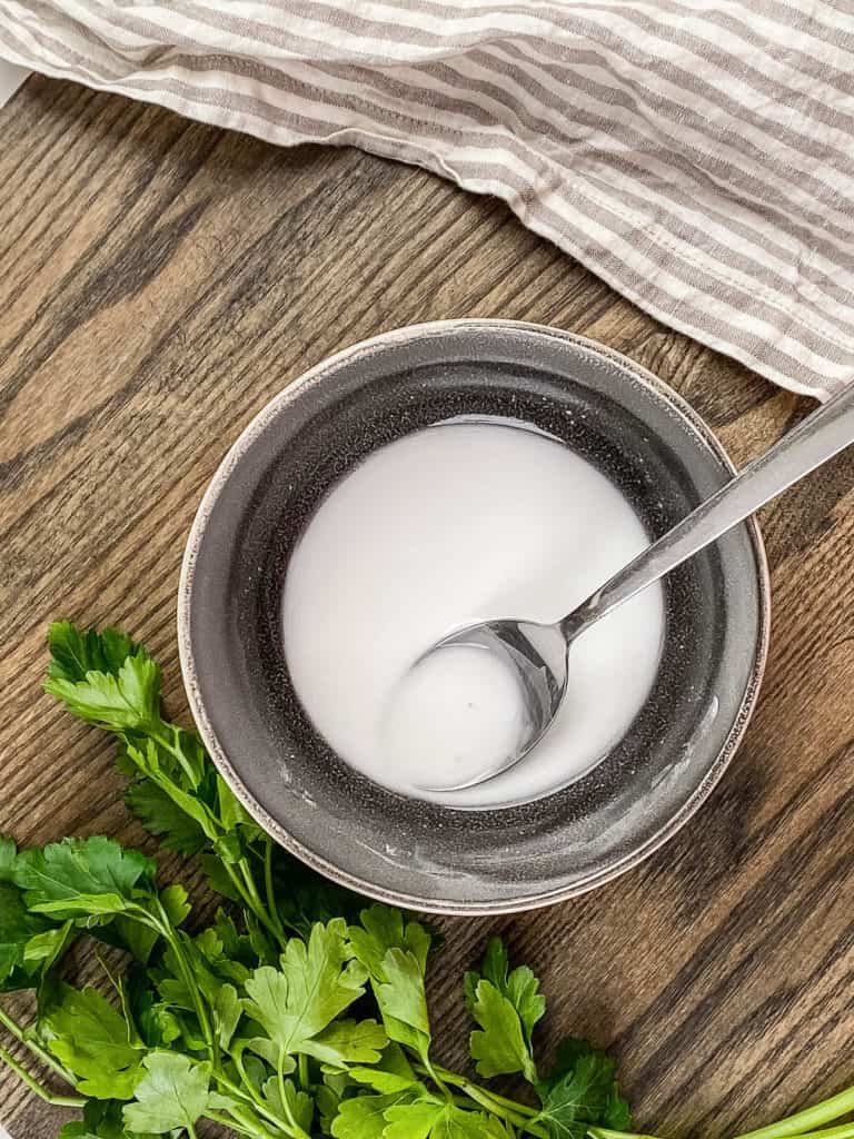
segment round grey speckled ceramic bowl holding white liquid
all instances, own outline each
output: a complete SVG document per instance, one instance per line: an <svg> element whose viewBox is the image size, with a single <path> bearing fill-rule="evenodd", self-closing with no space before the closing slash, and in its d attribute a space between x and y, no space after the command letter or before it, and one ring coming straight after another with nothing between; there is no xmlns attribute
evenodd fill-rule
<svg viewBox="0 0 854 1139"><path fill-rule="evenodd" d="M467 413L509 416L566 440L654 535L733 469L679 396L590 341L488 320L387 333L291 383L231 448L190 533L179 639L214 762L278 842L375 898L495 913L608 882L699 808L756 702L769 584L754 523L671 575L666 645L647 704L602 762L564 790L457 811L377 786L326 745L291 688L280 621L288 559L323 495L367 454Z"/></svg>

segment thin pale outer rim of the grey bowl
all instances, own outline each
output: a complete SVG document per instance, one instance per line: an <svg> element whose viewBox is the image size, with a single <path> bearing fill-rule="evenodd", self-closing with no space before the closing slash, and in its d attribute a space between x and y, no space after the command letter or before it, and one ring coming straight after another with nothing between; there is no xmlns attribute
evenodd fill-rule
<svg viewBox="0 0 854 1139"><path fill-rule="evenodd" d="M360 878L358 875L340 869L334 862L328 861L322 855L312 851L303 843L298 842L277 819L274 819L261 802L249 792L240 778L239 772L232 764L229 756L222 748L211 721L205 711L202 697L199 678L196 671L195 656L192 649L192 629L190 617L190 599L194 587L194 575L196 559L199 547L204 539L207 521L214 510L220 492L228 482L232 470L239 464L244 453L252 446L255 439L262 434L268 425L274 420L284 408L286 408L306 385L317 383L332 368L342 363L358 359L359 357L387 347L400 347L412 339L425 336L452 333L457 329L474 331L478 328L485 330L503 329L506 331L533 333L539 336L548 336L572 344L593 355L605 358L621 368L630 371L633 378L651 390L652 394L667 402L674 412L708 445L714 456L720 460L725 470L731 474L737 473L737 468L730 459L721 441L706 424L701 416L675 392L668 384L656 376L642 364L608 347L598 341L575 333L555 328L549 325L540 325L524 320L506 320L501 318L459 318L453 320L434 320L417 325L405 325L401 328L391 329L359 341L332 355L323 358L319 363L312 366L306 371L294 378L285 388L278 392L264 407L253 417L248 425L231 444L224 458L211 478L205 493L199 502L198 509L192 521L190 532L184 548L181 563L181 573L178 589L178 649L181 663L181 673L190 712L198 728L202 740L207 748L211 759L217 771L225 780L230 789L235 793L239 802L252 816L252 818L285 850L295 854L312 869L319 871L334 882L347 886L367 898L386 902L392 906L403 906L408 909L422 910L432 913L445 913L451 916L494 916L503 913L516 913L525 910L542 909L553 906L557 902L577 898L614 880L627 870L638 866L649 858L655 851L663 846L673 835L676 834L692 816L706 802L714 788L721 780L724 771L730 764L732 756L738 749L747 730L753 712L756 707L762 678L765 672L767 661L770 630L771 630L771 579L769 572L767 556L762 539L758 523L755 517L750 517L744 523L750 535L750 543L756 558L756 577L758 588L758 629L756 636L754 662L748 678L745 694L739 705L738 714L733 724L714 760L709 771L701 782L695 788L685 803L674 816L672 816L654 835L643 842L635 850L627 852L610 866L591 874L582 882L573 883L545 893L519 894L514 898L504 898L496 901L471 901L471 902L445 902L435 898L422 898L418 894L409 894L399 891L387 890L375 883Z"/></svg>

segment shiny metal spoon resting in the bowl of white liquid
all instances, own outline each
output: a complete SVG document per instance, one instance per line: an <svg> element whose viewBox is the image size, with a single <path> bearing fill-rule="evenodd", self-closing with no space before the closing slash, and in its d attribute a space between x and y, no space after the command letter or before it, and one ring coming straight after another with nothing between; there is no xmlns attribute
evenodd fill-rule
<svg viewBox="0 0 854 1139"><path fill-rule="evenodd" d="M569 649L577 637L852 442L854 383L813 411L770 451L754 459L741 474L639 554L561 621L552 625L512 618L485 621L458 629L428 649L421 661L460 645L500 654L518 679L526 716L522 738L507 757L465 781L424 789L463 790L515 767L555 722L566 696Z"/></svg>

